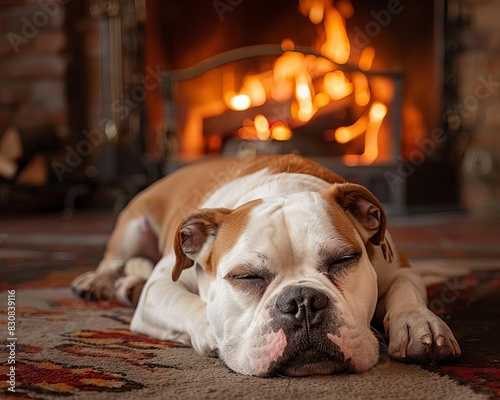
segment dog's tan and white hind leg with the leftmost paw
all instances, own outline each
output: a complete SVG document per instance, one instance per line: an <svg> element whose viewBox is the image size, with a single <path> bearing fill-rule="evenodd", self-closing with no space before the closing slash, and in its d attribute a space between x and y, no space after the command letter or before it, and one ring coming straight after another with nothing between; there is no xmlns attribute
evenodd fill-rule
<svg viewBox="0 0 500 400"><path fill-rule="evenodd" d="M95 271L76 277L71 283L73 291L87 300L115 298L115 282L132 257L156 263L160 253L157 236L147 218L138 215L134 208L126 208L118 217L99 266Z"/></svg>

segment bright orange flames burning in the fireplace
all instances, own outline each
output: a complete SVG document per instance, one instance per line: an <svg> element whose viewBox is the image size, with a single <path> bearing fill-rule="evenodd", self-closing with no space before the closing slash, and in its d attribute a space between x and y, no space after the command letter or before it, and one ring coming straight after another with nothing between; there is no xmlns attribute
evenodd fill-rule
<svg viewBox="0 0 500 400"><path fill-rule="evenodd" d="M338 65L347 62L354 65L346 31L346 19L354 12L351 2L338 0L334 5L332 0L299 0L299 9L313 24L322 24L325 39L319 50L325 58L297 52L295 44L284 39L281 44L284 53L274 61L272 71L245 77L238 92L226 90L225 102L237 111L262 106L268 100L288 103L293 118L291 126L300 126L311 121L320 109L336 107L337 102L345 101L361 116L350 126L324 131L324 140L345 144L364 134L364 152L347 155L344 161L348 165L370 164L379 156L378 136L387 115L386 104L392 98L385 81L373 77L369 80L364 73L372 68L375 49L366 47L358 52L359 70L341 70ZM377 90L373 98L376 85L383 90ZM238 134L244 139L263 141L292 138L286 121L270 123L262 114L245 120Z"/></svg>

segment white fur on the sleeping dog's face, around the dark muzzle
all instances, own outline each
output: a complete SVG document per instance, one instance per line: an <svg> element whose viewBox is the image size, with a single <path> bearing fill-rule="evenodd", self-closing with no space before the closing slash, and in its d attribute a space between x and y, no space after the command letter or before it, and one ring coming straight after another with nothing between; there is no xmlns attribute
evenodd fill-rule
<svg viewBox="0 0 500 400"><path fill-rule="evenodd" d="M341 294L318 272L320 246L343 245L343 238L326 215L324 200L318 193L267 198L252 211L247 229L219 263L217 277L209 291L208 319L221 358L235 371L259 375L249 359L261 360L260 365L276 361L273 360L275 349L270 348L269 341L263 337L272 334L269 310L274 306L273 299L290 285L304 285L329 293L336 301L336 311L345 320L344 330L349 331L344 336L343 347L357 348L349 350L351 362L359 371L376 364L378 343L370 330L377 301L375 273L364 254L344 280L347 287L352 286L352 293L346 290ZM275 272L276 277L260 302L254 303L251 296L238 293L223 278L234 266L261 263L257 254L268 257L265 267ZM231 313L226 311L228 304L231 304Z"/></svg>

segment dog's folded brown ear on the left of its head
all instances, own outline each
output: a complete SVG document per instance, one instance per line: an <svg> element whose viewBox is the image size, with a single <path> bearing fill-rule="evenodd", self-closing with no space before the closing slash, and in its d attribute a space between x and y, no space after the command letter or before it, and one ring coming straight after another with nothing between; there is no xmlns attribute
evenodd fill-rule
<svg viewBox="0 0 500 400"><path fill-rule="evenodd" d="M203 247L215 237L224 216L231 210L211 208L195 211L180 223L174 239L175 265L172 280L175 282L184 269L198 260ZM209 243L212 244L212 243Z"/></svg>

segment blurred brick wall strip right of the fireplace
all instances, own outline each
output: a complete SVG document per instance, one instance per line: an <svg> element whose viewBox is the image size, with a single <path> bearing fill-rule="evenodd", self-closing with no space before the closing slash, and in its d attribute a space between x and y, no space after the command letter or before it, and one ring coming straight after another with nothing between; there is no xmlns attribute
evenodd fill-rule
<svg viewBox="0 0 500 400"><path fill-rule="evenodd" d="M473 211L500 212L500 1L450 4L463 20L455 107L466 141L462 199Z"/></svg>

